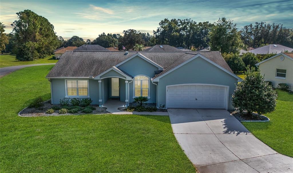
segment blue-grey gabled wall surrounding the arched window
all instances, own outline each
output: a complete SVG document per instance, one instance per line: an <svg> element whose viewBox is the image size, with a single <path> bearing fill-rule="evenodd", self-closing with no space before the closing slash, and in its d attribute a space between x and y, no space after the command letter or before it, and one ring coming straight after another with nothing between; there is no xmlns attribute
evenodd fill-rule
<svg viewBox="0 0 293 173"><path fill-rule="evenodd" d="M121 64L119 68L132 76L146 75L148 77L154 77L155 71L158 68L139 56L132 58L131 60ZM133 84L134 82L129 81L129 102L133 102ZM148 103L156 103L156 85L150 81L149 86L150 99Z"/></svg>

